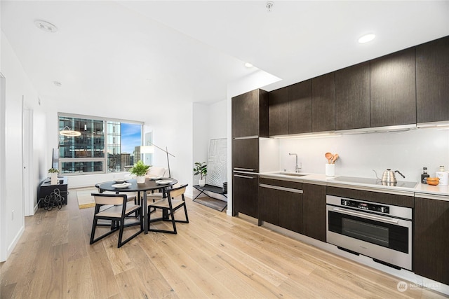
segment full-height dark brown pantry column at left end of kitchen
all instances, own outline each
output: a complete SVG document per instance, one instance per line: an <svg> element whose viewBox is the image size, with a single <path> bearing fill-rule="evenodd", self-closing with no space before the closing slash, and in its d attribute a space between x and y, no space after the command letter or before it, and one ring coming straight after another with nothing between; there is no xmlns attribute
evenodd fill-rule
<svg viewBox="0 0 449 299"><path fill-rule="evenodd" d="M232 98L232 214L258 218L259 137L268 137L268 93Z"/></svg>

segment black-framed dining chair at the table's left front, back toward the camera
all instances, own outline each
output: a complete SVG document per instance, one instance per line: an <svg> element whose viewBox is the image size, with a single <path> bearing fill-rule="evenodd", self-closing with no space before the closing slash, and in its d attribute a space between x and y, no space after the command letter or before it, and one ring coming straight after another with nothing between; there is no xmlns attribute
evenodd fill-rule
<svg viewBox="0 0 449 299"><path fill-rule="evenodd" d="M119 230L119 242L117 247L120 248L123 244L129 242L130 239L133 239L133 237L139 235L140 232L143 232L143 218L141 215L142 206L128 202L126 194L92 193L92 196L95 200L95 212L93 215L91 244ZM104 207L105 205L111 207L100 210L101 207ZM134 221L132 223L125 224L125 218L133 213L138 214L138 222ZM95 238L95 230L97 226L100 225L98 224L99 220L111 221L111 229L103 235ZM122 241L124 228L133 225L140 225L140 230Z"/></svg>

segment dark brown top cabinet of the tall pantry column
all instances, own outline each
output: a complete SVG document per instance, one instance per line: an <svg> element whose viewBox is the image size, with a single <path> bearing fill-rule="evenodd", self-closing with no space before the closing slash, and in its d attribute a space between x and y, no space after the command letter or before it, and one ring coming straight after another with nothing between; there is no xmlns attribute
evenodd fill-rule
<svg viewBox="0 0 449 299"><path fill-rule="evenodd" d="M257 89L232 98L232 137L268 137L268 92Z"/></svg>

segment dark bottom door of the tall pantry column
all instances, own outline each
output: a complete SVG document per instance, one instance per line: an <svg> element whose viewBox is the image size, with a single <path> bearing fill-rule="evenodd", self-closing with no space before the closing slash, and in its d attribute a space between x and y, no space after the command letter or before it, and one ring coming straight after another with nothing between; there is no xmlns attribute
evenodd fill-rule
<svg viewBox="0 0 449 299"><path fill-rule="evenodd" d="M257 175L234 174L232 179L232 209L234 216L243 213L258 218Z"/></svg>

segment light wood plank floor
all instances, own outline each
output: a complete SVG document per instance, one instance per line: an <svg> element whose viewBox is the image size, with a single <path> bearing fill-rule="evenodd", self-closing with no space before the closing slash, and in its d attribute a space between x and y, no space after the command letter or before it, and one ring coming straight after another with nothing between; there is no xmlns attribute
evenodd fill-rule
<svg viewBox="0 0 449 299"><path fill-rule="evenodd" d="M188 200L177 235L149 232L89 245L93 208L76 192L25 219L0 264L1 298L442 298L400 293L399 279Z"/></svg>

